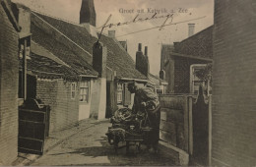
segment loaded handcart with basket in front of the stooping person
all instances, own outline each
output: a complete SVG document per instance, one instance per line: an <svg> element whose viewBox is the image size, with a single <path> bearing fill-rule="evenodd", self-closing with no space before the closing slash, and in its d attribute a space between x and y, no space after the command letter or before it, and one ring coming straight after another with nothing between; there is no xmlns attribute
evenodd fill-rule
<svg viewBox="0 0 256 167"><path fill-rule="evenodd" d="M152 132L151 122L146 110L134 114L129 108L121 108L115 111L110 119L112 126L106 133L108 142L118 150L120 141L126 142L126 152L129 152L131 142L134 142L138 151L141 151L141 144L147 144L149 134Z"/></svg>

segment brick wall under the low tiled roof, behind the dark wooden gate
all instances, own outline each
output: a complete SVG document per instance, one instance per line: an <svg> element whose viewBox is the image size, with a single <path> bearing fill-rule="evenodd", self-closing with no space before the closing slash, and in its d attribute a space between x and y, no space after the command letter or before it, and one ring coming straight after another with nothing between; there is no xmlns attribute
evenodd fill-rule
<svg viewBox="0 0 256 167"><path fill-rule="evenodd" d="M51 108L49 134L60 131L78 122L79 91L71 99L71 83L63 80L37 80L36 97Z"/></svg>

